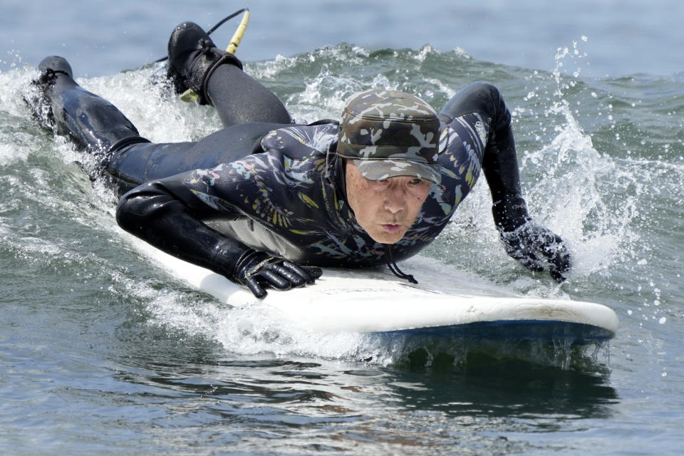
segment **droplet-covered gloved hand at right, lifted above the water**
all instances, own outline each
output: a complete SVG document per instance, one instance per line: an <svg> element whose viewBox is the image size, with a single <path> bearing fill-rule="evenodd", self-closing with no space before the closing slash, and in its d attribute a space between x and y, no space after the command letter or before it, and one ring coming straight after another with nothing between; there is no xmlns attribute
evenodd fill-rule
<svg viewBox="0 0 684 456"><path fill-rule="evenodd" d="M512 231L499 228L499 233L510 257L532 271L543 271L547 266L554 280L565 281L564 273L570 270L570 253L559 236L532 222Z"/></svg>

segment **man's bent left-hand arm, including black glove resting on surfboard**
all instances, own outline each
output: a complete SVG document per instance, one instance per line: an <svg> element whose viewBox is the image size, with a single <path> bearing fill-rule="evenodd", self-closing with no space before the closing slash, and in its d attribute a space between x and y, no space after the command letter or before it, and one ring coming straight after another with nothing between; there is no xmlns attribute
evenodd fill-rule
<svg viewBox="0 0 684 456"><path fill-rule="evenodd" d="M146 182L123 195L116 211L119 226L163 252L246 286L258 298L266 296L265 286L289 289L321 276L319 268L255 251L207 227L201 218L214 209L192 195L184 180L177 175Z"/></svg>

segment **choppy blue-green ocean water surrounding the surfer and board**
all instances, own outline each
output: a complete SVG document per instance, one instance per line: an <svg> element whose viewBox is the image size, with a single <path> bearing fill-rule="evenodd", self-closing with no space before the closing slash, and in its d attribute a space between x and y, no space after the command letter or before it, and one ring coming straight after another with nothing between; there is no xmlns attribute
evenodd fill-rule
<svg viewBox="0 0 684 456"><path fill-rule="evenodd" d="M4 2L0 452L681 454L683 5ZM245 70L304 122L337 117L363 88L440 108L467 83L495 83L531 212L568 242L572 275L558 285L507 257L484 180L423 256L519 294L610 306L611 343L420 358L223 306L135 249L113 194L76 164L88 157L31 117L36 66L61 54L142 135L196 140L217 116L170 96L146 63L180 21L208 28L243 6Z"/></svg>

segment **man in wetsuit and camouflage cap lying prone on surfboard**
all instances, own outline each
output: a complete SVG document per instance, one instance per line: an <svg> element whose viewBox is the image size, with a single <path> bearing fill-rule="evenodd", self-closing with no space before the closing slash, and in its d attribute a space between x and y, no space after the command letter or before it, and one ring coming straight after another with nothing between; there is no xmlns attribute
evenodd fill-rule
<svg viewBox="0 0 684 456"><path fill-rule="evenodd" d="M293 123L281 101L193 23L169 41L168 76L213 105L224 128L198 142L153 144L113 105L48 57L36 113L103 154L123 196L117 221L150 244L247 286L313 284L317 266L388 264L430 244L480 175L507 253L562 281L562 240L531 222L521 196L510 113L499 90L474 83L436 113L409 93L353 95L341 121Z"/></svg>

